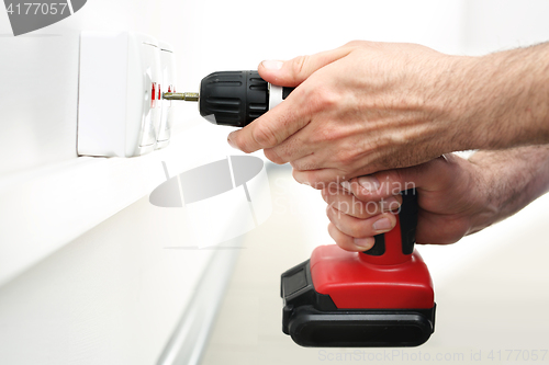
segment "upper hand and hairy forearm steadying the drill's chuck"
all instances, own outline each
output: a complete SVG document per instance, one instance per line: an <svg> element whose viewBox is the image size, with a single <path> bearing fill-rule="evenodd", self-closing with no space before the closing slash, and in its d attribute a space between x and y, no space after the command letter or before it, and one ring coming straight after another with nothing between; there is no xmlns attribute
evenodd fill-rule
<svg viewBox="0 0 549 365"><path fill-rule="evenodd" d="M298 88L228 142L290 162L316 189L456 150L549 142L548 44L463 57L351 42L258 71Z"/></svg>

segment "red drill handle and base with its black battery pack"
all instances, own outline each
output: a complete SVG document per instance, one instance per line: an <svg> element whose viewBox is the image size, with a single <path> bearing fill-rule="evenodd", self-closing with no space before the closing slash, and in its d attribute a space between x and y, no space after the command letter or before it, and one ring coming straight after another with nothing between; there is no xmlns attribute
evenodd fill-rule
<svg viewBox="0 0 549 365"><path fill-rule="evenodd" d="M429 272L414 249L417 197L403 201L396 227L376 236L369 251L321 246L282 274L282 331L295 343L400 347L429 339L436 304Z"/></svg>

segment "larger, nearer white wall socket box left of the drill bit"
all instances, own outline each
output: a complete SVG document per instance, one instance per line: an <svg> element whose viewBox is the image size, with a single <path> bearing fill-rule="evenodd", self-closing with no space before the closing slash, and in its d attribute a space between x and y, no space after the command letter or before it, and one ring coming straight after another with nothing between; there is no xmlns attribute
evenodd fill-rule
<svg viewBox="0 0 549 365"><path fill-rule="evenodd" d="M155 38L131 32L82 32L78 155L132 157L154 150L163 83Z"/></svg>

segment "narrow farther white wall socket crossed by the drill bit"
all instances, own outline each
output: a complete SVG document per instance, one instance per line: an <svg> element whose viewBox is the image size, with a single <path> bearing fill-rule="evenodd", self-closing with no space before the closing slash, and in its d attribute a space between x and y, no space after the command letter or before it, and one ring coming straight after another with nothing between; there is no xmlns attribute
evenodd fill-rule
<svg viewBox="0 0 549 365"><path fill-rule="evenodd" d="M163 92L176 92L176 56L173 54L173 47L165 42L159 42L158 45L160 47ZM172 123L173 107L171 106L171 100L163 100L160 127L156 136L156 148L168 146Z"/></svg>

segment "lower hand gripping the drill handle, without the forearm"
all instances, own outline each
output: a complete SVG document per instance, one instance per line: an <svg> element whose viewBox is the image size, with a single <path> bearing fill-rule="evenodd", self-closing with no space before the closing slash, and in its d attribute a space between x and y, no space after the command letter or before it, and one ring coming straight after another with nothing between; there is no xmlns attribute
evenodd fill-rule
<svg viewBox="0 0 549 365"><path fill-rule="evenodd" d="M400 192L415 187L418 194L418 243L453 243L495 215L486 205L477 167L448 155L424 164L379 172L344 183L347 189L324 189L330 220L328 231L343 249L365 251L373 236L394 228Z"/></svg>

